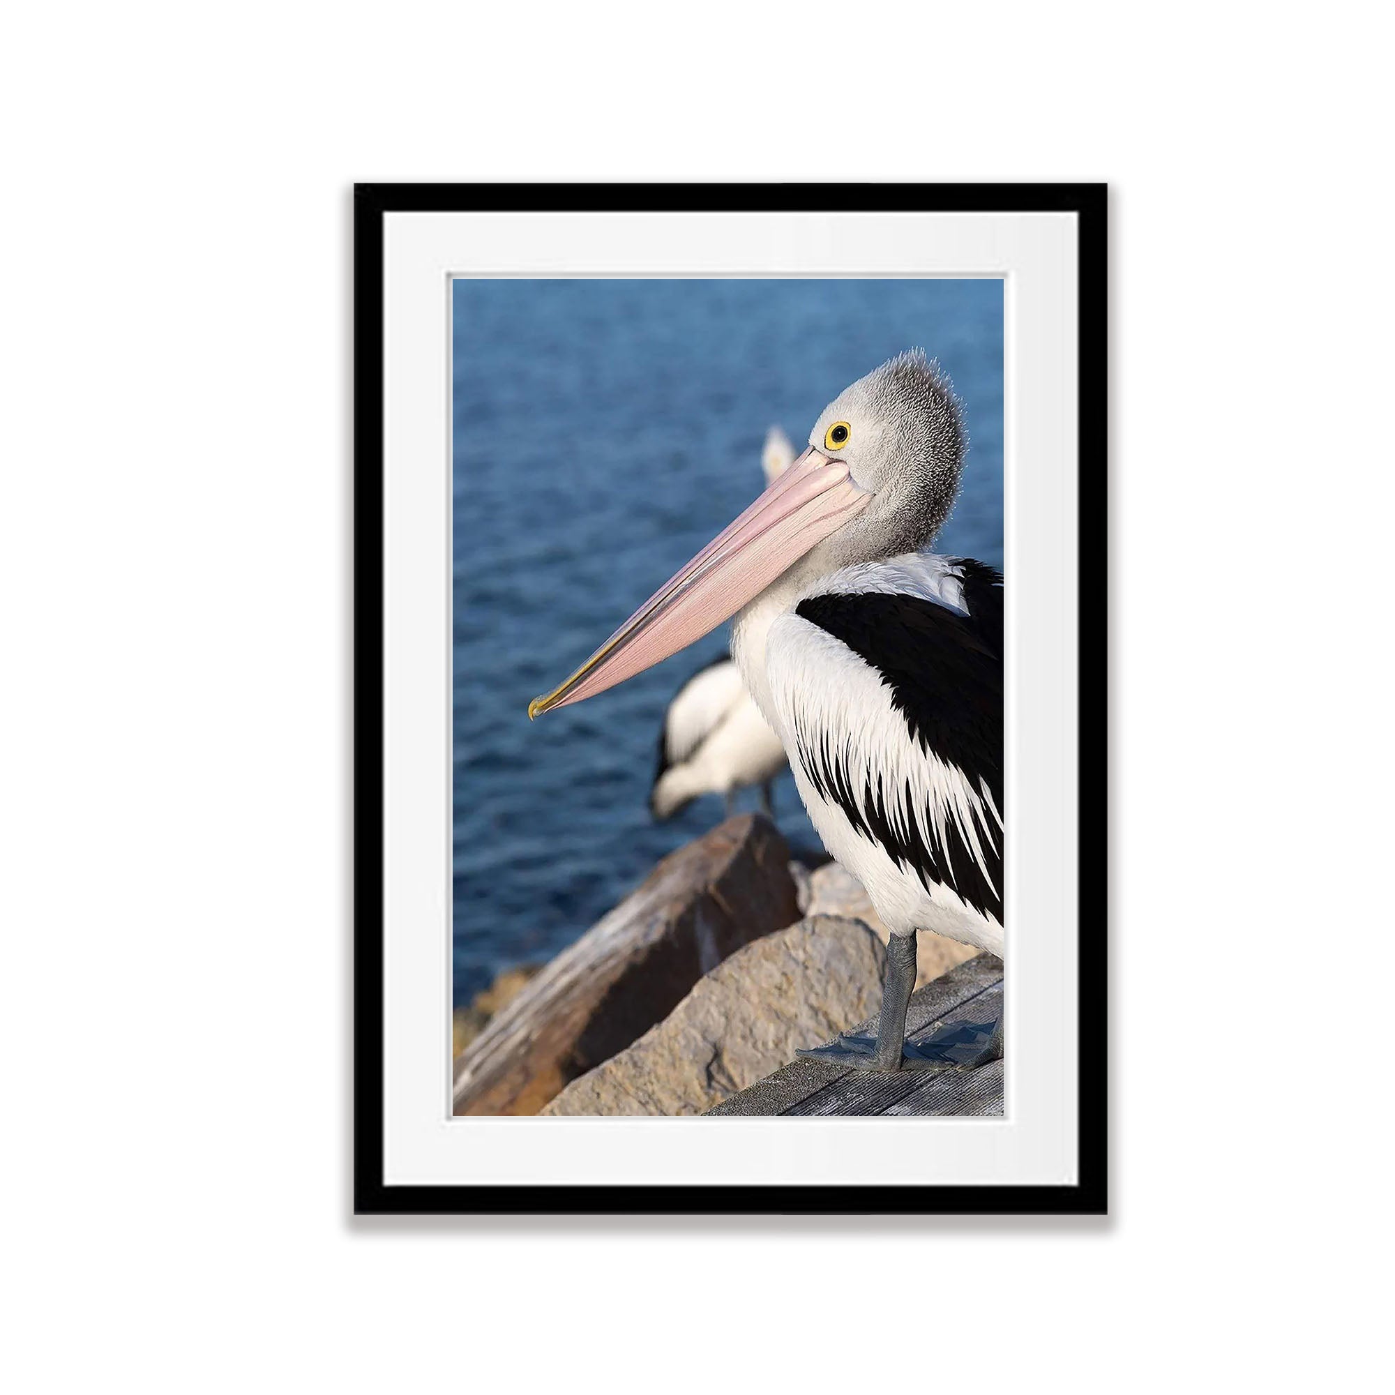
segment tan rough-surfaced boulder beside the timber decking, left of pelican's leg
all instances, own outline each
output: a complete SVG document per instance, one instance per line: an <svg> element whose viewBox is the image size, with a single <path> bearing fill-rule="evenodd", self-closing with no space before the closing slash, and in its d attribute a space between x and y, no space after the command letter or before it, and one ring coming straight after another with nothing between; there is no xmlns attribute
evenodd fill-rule
<svg viewBox="0 0 1395 1395"><path fill-rule="evenodd" d="M633 1046L572 1081L544 1115L700 1115L862 1021L886 954L855 919L819 915L748 944Z"/></svg>

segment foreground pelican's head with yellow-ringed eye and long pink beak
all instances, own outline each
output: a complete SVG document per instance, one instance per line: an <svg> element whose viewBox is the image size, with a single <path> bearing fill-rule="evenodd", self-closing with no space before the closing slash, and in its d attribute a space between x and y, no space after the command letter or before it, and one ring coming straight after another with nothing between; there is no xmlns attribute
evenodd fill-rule
<svg viewBox="0 0 1395 1395"><path fill-rule="evenodd" d="M808 579L923 547L964 463L958 402L919 349L823 409L809 448L529 716L614 688L730 619L780 576Z"/></svg>

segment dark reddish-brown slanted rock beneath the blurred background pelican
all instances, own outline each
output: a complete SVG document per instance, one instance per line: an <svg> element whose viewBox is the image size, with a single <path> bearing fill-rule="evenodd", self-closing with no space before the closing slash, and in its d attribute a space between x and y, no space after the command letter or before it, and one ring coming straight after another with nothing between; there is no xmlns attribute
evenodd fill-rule
<svg viewBox="0 0 1395 1395"><path fill-rule="evenodd" d="M703 974L799 918L790 852L760 815L671 852L551 961L455 1063L458 1115L534 1115L663 1021Z"/></svg>

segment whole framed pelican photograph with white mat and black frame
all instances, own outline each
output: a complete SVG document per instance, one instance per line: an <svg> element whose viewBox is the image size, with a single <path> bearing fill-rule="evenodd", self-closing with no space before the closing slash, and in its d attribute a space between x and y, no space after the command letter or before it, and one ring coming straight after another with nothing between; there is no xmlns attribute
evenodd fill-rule
<svg viewBox="0 0 1395 1395"><path fill-rule="evenodd" d="M1105 187L354 198L354 1204L1106 1209Z"/></svg>

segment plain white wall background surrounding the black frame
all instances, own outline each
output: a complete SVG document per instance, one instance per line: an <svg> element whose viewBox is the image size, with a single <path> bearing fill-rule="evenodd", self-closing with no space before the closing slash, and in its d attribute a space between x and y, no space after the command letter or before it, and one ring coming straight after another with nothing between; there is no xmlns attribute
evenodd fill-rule
<svg viewBox="0 0 1395 1395"><path fill-rule="evenodd" d="M8 1388L1373 1384L1377 13L7 17ZM1108 1223L349 1219L349 187L578 177L1113 183Z"/></svg>

